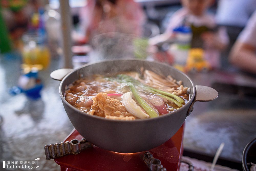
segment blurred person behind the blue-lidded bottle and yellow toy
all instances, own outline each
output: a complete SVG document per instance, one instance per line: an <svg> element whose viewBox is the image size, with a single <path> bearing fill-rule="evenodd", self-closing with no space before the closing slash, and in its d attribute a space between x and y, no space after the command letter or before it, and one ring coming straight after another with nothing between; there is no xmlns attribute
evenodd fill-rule
<svg viewBox="0 0 256 171"><path fill-rule="evenodd" d="M182 25L191 27L191 48L204 48L207 60L215 68L220 67L220 51L224 50L229 38L225 28L218 28L215 16L208 14L207 9L214 4L214 0L181 0L182 8L177 10L167 26L165 33L150 39L151 45L157 45L165 41L175 41L174 29Z"/></svg>

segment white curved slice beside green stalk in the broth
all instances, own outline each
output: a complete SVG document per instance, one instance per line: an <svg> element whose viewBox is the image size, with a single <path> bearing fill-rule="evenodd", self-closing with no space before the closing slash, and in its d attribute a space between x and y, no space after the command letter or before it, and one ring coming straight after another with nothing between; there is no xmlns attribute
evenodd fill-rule
<svg viewBox="0 0 256 171"><path fill-rule="evenodd" d="M127 92L124 93L123 98L122 98L122 103L125 107L125 109L130 112L131 114L133 114L134 116L144 119L144 118L148 118L149 115L146 114L140 106L138 106L135 101L132 99L132 92Z"/></svg>

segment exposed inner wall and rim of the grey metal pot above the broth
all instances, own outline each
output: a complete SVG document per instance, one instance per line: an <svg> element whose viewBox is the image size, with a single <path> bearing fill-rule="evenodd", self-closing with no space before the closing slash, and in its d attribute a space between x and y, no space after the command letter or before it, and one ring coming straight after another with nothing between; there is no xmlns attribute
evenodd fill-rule
<svg viewBox="0 0 256 171"><path fill-rule="evenodd" d="M157 74L162 74L163 76L171 75L176 80L182 80L183 85L185 87L190 88L190 100L187 102L186 105L190 105L195 98L195 85L191 81L191 79L183 72L175 69L172 66L169 66L164 63L160 62L151 62L151 61L145 61L145 60L135 60L135 59L120 59L120 60L106 60L91 64L86 64L81 66L80 68L72 71L69 73L66 77L63 78L63 80L60 83L60 95L63 102L65 102L68 106L73 108L79 113L78 109L70 105L65 100L65 90L66 87L73 83L75 80L87 77L92 74L106 74L106 73L116 73L121 71L137 71L140 72L141 68L148 69L151 71L154 71ZM184 107L184 106L183 106ZM179 110L175 111L178 112ZM168 115L168 114L167 114ZM95 116L99 117L99 116Z"/></svg>

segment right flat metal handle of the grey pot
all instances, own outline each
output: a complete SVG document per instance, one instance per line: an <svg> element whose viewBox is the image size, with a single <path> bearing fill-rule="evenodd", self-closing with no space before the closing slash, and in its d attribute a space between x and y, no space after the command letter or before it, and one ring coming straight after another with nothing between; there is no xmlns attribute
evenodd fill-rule
<svg viewBox="0 0 256 171"><path fill-rule="evenodd" d="M193 111L193 105L195 102L209 102L218 97L219 93L215 89L207 86L196 85L196 97L189 107L187 115Z"/></svg>

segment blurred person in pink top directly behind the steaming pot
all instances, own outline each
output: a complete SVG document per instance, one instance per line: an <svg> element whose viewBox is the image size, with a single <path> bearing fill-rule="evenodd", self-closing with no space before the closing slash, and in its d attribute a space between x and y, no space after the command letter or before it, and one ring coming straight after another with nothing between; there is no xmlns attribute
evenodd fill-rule
<svg viewBox="0 0 256 171"><path fill-rule="evenodd" d="M133 0L91 0L81 9L82 29L90 42L93 36L120 32L141 35L145 15Z"/></svg>

